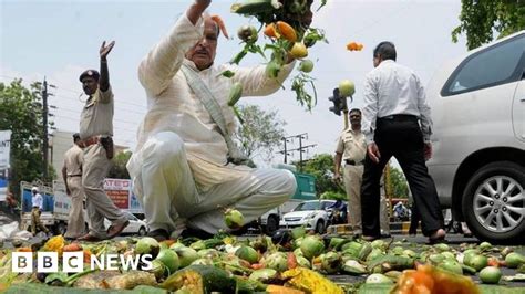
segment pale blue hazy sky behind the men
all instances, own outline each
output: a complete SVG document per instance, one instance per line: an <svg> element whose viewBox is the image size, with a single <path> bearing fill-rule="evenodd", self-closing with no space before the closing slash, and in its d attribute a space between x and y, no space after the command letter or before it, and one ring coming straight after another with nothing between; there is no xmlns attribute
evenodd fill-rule
<svg viewBox="0 0 525 294"><path fill-rule="evenodd" d="M173 27L193 1L165 0L0 0L0 82L21 77L29 84L44 77L55 88L49 103L51 119L59 130L78 132L83 101L78 77L86 69L97 69L102 41L114 40L109 55L110 77L115 95L114 139L119 145L135 147L135 134L146 113L146 95L137 80L137 66L145 54ZM219 39L216 63L228 62L240 51L237 29L254 24L229 12L235 1L212 1L208 11L225 20L233 40ZM319 6L316 0L313 8ZM465 40L452 43L451 31L459 25L459 0L328 0L313 17L311 27L323 29L329 44L316 44L309 59L316 65L311 75L318 91L317 106L307 112L296 103L290 84L267 97L246 97L241 104L278 111L287 122L287 136L308 133L302 145L312 145L303 155L333 154L343 128L343 118L328 111L328 97L342 80L356 83L350 107L362 107L363 80L373 69L372 51L381 41L392 41L398 62L414 70L423 84L451 59L466 52ZM268 40L260 36L259 43ZM348 42L362 43L360 52L346 50ZM260 56L248 56L241 65L265 63ZM296 74L297 72L294 72ZM299 147L296 139L288 148ZM296 151L289 160L299 159ZM271 164L282 161L276 154Z"/></svg>

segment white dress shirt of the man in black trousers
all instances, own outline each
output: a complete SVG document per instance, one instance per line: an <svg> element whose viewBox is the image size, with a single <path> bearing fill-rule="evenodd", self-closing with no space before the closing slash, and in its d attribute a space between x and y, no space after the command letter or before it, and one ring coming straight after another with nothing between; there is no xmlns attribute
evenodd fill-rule
<svg viewBox="0 0 525 294"><path fill-rule="evenodd" d="M392 60L382 61L367 75L362 113L367 144L373 141L377 118L399 114L420 118L423 139L430 141L432 119L420 78Z"/></svg>

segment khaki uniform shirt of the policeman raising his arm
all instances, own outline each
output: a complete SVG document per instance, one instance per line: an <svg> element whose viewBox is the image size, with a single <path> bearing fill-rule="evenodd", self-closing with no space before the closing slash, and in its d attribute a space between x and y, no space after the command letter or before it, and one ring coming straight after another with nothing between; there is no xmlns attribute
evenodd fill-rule
<svg viewBox="0 0 525 294"><path fill-rule="evenodd" d="M113 92L111 87L102 92L100 88L85 102L80 115L80 138L93 136L113 136Z"/></svg>

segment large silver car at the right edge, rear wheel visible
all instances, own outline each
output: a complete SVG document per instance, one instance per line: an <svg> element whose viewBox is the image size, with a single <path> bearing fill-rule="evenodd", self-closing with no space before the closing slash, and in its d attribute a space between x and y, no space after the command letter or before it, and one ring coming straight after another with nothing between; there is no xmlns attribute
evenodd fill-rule
<svg viewBox="0 0 525 294"><path fill-rule="evenodd" d="M442 206L478 239L525 240L525 31L449 62L426 96Z"/></svg>

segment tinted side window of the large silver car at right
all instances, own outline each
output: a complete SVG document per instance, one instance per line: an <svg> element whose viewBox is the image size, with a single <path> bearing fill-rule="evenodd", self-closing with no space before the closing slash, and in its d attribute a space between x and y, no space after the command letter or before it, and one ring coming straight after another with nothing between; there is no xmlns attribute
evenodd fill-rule
<svg viewBox="0 0 525 294"><path fill-rule="evenodd" d="M524 51L522 35L473 55L453 73L445 93L454 95L512 82Z"/></svg>

